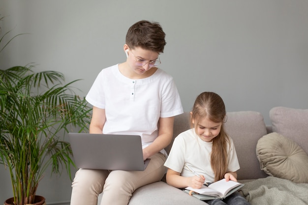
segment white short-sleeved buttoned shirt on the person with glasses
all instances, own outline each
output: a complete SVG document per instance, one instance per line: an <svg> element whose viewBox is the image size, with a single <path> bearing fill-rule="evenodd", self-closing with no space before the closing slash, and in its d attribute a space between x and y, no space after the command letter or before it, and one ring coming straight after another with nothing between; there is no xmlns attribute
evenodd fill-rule
<svg viewBox="0 0 308 205"><path fill-rule="evenodd" d="M132 80L119 65L103 69L86 96L93 106L105 109L104 134L140 135L143 147L158 136L159 117L183 113L173 78L161 69L144 79Z"/></svg>

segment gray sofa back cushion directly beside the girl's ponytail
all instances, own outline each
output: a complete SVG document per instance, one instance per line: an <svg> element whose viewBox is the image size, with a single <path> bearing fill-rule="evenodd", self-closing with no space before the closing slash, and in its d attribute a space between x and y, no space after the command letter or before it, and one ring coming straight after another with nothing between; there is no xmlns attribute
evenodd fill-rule
<svg viewBox="0 0 308 205"><path fill-rule="evenodd" d="M259 166L255 147L267 134L263 116L259 112L228 112L225 129L232 138L240 163L238 179L256 179L268 176Z"/></svg>

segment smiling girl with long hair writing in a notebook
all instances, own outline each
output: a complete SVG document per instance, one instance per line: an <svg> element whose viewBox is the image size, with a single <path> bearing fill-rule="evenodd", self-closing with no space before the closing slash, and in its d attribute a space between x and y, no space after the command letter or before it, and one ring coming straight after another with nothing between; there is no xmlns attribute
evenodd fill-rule
<svg viewBox="0 0 308 205"><path fill-rule="evenodd" d="M225 105L214 92L203 92L190 112L191 129L175 138L165 162L166 181L177 188L199 189L203 184L225 178L237 181L240 169L232 139L224 130ZM196 176L195 174L197 173ZM238 192L210 205L249 205Z"/></svg>

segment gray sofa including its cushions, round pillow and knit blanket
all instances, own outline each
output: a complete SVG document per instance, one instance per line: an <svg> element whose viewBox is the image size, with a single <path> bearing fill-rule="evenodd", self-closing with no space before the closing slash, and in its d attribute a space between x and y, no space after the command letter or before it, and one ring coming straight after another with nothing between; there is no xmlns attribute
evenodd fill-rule
<svg viewBox="0 0 308 205"><path fill-rule="evenodd" d="M266 126L258 112L227 113L225 128L241 167L238 180L245 184L240 193L251 205L307 205L308 110L275 107L269 115L272 124ZM187 129L189 114L176 116L174 138ZM169 186L163 178L137 189L129 205L205 203Z"/></svg>

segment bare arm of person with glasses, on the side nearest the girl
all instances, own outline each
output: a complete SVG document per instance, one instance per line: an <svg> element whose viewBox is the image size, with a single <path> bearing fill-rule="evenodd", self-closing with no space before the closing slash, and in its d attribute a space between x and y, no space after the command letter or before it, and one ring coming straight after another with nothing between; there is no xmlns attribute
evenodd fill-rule
<svg viewBox="0 0 308 205"><path fill-rule="evenodd" d="M160 117L158 120L158 137L154 142L143 149L143 159L156 154L171 143L173 137L174 117Z"/></svg>

